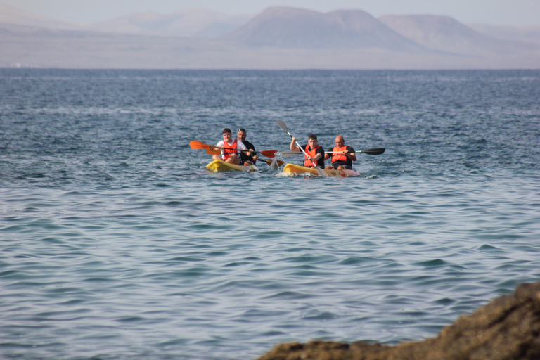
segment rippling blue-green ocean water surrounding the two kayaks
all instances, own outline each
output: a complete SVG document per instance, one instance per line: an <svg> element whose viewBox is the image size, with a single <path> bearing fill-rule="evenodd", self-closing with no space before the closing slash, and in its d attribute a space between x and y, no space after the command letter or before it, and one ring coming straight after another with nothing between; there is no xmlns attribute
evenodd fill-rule
<svg viewBox="0 0 540 360"><path fill-rule="evenodd" d="M386 152L322 179L189 146L287 150L277 119ZM1 69L0 356L434 337L540 281L539 165L539 70Z"/></svg>

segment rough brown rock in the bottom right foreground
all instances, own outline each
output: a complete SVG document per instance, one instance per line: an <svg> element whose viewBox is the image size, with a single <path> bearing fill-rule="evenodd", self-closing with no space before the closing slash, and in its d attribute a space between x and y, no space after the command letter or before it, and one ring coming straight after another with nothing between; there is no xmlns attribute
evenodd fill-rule
<svg viewBox="0 0 540 360"><path fill-rule="evenodd" d="M258 360L539 360L540 283L525 283L437 338L396 346L312 341L281 344Z"/></svg>

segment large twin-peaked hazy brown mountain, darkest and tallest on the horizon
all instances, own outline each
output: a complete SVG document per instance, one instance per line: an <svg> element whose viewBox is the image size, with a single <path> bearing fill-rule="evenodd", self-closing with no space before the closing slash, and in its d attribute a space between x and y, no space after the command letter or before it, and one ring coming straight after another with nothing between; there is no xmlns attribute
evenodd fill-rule
<svg viewBox="0 0 540 360"><path fill-rule="evenodd" d="M285 49L426 51L361 10L319 13L271 7L223 39L245 46Z"/></svg>

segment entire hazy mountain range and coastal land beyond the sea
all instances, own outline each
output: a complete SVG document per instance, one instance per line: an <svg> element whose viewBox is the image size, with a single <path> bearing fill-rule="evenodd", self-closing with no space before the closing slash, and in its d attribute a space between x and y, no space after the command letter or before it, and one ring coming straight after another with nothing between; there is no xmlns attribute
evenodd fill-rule
<svg viewBox="0 0 540 360"><path fill-rule="evenodd" d="M0 66L44 68L539 68L539 27L465 25L437 15L271 7L67 23L0 4Z"/></svg>

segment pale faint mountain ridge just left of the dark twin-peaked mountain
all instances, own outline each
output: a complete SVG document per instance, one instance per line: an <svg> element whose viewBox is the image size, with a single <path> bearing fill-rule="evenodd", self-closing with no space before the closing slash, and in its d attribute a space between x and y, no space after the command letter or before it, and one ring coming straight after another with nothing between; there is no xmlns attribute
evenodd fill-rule
<svg viewBox="0 0 540 360"><path fill-rule="evenodd" d="M169 15L134 13L94 23L86 29L119 34L215 38L236 30L251 18L252 15L229 16L192 8Z"/></svg>

